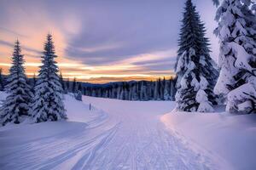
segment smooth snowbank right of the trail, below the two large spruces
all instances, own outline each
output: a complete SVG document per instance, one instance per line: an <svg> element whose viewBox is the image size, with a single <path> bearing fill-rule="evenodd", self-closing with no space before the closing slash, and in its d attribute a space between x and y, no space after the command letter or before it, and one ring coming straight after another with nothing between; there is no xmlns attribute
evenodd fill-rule
<svg viewBox="0 0 256 170"><path fill-rule="evenodd" d="M256 169L256 115L184 113L172 111L161 117L166 127L186 140L189 147L208 150L224 167Z"/></svg>

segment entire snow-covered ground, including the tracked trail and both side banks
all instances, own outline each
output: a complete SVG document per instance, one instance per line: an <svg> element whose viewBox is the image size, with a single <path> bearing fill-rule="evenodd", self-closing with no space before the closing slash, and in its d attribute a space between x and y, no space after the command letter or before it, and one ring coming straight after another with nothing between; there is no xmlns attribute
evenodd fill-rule
<svg viewBox="0 0 256 170"><path fill-rule="evenodd" d="M170 101L83 99L66 95L67 122L0 127L0 169L256 167L253 115L177 114Z"/></svg>

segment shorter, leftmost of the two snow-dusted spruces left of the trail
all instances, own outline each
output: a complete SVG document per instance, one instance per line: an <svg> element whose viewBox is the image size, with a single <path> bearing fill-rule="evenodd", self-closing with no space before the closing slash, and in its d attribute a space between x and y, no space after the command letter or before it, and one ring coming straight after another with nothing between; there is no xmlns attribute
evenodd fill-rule
<svg viewBox="0 0 256 170"><path fill-rule="evenodd" d="M20 123L29 116L32 89L26 82L24 59L21 54L20 42L15 42L12 66L9 69L8 84L5 87L9 94L0 110L0 122L4 126L9 122Z"/></svg>

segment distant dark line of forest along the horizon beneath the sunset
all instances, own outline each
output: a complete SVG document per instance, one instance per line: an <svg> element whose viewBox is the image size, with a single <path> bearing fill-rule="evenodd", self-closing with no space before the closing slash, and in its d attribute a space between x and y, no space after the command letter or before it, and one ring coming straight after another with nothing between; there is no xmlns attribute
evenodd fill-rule
<svg viewBox="0 0 256 170"><path fill-rule="evenodd" d="M0 90L2 91L7 84L6 75L0 72ZM34 87L37 78L27 78L29 84ZM90 82L77 82L67 78L60 78L61 86L65 94L83 94L86 96L123 99L123 100L175 100L176 80L158 79L156 81L129 81L129 82L108 82L96 84Z"/></svg>

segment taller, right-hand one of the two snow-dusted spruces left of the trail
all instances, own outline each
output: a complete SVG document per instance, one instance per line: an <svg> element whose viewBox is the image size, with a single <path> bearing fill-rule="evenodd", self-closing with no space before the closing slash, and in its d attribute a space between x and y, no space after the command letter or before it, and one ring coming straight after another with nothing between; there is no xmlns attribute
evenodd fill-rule
<svg viewBox="0 0 256 170"><path fill-rule="evenodd" d="M35 97L32 104L32 116L35 122L59 121L66 119L66 111L63 104L63 89L59 76L59 68L56 65L55 47L52 36L47 35L44 44L43 65L40 66L38 81L35 87Z"/></svg>

